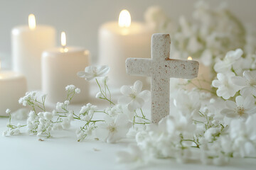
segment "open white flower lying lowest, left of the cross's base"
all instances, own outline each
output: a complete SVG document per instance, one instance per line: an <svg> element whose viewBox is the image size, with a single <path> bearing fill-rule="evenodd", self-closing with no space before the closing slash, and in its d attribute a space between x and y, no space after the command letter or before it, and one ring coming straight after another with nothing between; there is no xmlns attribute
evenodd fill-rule
<svg viewBox="0 0 256 170"><path fill-rule="evenodd" d="M100 123L97 127L96 135L100 140L114 143L126 137L129 128L132 127L132 123L129 122L124 114L119 114L116 118L107 115L105 123Z"/></svg>

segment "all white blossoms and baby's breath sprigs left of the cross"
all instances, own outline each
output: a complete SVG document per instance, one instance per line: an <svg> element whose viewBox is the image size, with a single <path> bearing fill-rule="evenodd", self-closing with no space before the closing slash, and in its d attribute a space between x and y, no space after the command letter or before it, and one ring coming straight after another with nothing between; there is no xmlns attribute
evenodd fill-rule
<svg viewBox="0 0 256 170"><path fill-rule="evenodd" d="M85 72L78 73L78 76L87 81L96 80L100 89L96 98L110 103L110 106L103 111L91 103L82 106L79 113L70 109L69 105L73 96L80 93L80 89L74 85L65 87L67 98L64 102L56 103L53 111L46 111L46 95L40 96L38 92L33 91L19 100L23 106L31 106L27 124L12 125L11 111L8 109L6 113L10 115L10 120L7 125L8 130L4 132L4 135L18 135L20 128L26 127L28 134L37 135L42 140L51 137L53 130L66 130L70 128L72 120L80 120L83 125L76 131L78 141L95 139L113 143L127 137L127 133L132 131L130 129L149 124L150 120L144 115L142 107L145 101L148 101L150 92L142 91L142 82L136 81L134 86L122 86L121 93L124 96L119 99L119 104L115 104L107 86L107 77L105 77L109 70L107 66L89 66L85 68ZM99 116L102 118L98 119Z"/></svg>

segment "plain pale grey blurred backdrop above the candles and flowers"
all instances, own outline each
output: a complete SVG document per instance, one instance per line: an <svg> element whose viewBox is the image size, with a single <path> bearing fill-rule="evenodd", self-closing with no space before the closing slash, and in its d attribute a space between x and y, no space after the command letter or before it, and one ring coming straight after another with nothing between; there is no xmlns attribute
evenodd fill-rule
<svg viewBox="0 0 256 170"><path fill-rule="evenodd" d="M174 20L183 15L191 18L197 0L0 0L0 60L5 67L11 64L11 28L28 24L28 14L34 13L37 24L54 26L67 33L68 45L85 47L97 60L97 31L107 21L117 21L119 12L126 8L132 21L144 21L149 6L161 6ZM216 7L223 0L209 0ZM255 0L226 0L235 15L243 22L256 27ZM58 45L60 42L58 41Z"/></svg>

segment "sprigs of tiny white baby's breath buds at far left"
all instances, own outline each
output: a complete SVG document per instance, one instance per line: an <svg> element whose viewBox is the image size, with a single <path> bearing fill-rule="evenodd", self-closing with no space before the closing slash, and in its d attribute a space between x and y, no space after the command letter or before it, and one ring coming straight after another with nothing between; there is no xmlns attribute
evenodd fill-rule
<svg viewBox="0 0 256 170"><path fill-rule="evenodd" d="M18 102L23 106L31 107L31 111L28 113L27 124L12 125L11 111L7 109L6 113L9 114L10 119L7 125L8 129L3 135L18 135L20 128L26 127L28 134L37 135L41 139L51 137L50 132L52 130L70 128L70 121L73 120L73 111L68 109L68 105L73 96L80 93L80 89L74 85L66 86L65 89L67 91L67 100L64 103L58 102L53 111L46 111L46 95L40 96L36 91L26 93Z"/></svg>

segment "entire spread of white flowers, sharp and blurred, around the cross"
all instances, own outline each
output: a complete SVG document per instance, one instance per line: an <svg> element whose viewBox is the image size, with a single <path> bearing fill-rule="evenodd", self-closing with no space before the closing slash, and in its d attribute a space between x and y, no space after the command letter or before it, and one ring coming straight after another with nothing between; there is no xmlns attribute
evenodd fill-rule
<svg viewBox="0 0 256 170"><path fill-rule="evenodd" d="M13 125L7 109L10 119L4 135L18 135L21 128L26 128L28 134L44 140L51 137L53 130L65 130L71 121L81 121L83 125L76 131L78 141L114 143L128 136L134 138L129 149L117 153L122 163L174 159L221 165L233 158L256 159L254 37L248 38L242 23L223 6L213 9L199 2L193 17L197 22L181 18L175 26L159 7L146 12L146 21L156 31L170 31L175 42L172 50L178 57L198 57L213 69L210 89L201 86L201 79L198 84L171 79L171 113L158 125L151 124L142 111L150 91L142 91L141 81L122 86L123 96L114 103L107 86L110 68L90 66L78 76L97 82L100 91L96 98L109 103L107 108L101 111L87 103L75 113L69 104L80 89L73 85L66 87L67 98L53 111L46 111L46 96L29 92L19 100L31 107L26 125ZM97 113L104 114L104 118L96 119Z"/></svg>

